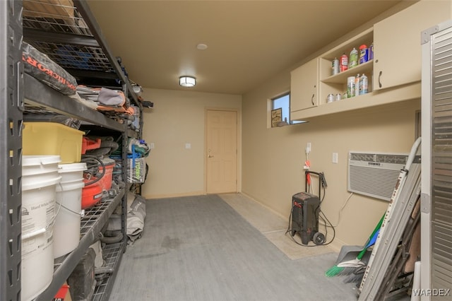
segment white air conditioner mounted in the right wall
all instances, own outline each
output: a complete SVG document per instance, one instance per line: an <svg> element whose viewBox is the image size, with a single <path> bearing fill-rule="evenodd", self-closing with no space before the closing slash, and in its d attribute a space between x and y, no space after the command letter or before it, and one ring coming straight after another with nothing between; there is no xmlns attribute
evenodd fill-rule
<svg viewBox="0 0 452 301"><path fill-rule="evenodd" d="M408 154L350 152L348 191L390 201Z"/></svg>

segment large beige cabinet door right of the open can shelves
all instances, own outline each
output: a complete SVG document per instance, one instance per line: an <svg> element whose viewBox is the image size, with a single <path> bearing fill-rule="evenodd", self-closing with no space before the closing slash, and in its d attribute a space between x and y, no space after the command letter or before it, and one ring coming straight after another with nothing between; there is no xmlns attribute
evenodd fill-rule
<svg viewBox="0 0 452 301"><path fill-rule="evenodd" d="M419 1L374 25L374 90L421 80L421 32L451 18L451 1Z"/></svg>

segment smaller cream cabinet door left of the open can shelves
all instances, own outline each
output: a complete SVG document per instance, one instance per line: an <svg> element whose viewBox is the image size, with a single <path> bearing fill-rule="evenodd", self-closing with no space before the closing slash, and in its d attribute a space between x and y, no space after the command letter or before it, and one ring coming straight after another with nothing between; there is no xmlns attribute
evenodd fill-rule
<svg viewBox="0 0 452 301"><path fill-rule="evenodd" d="M312 59L290 73L290 112L318 105L318 61Z"/></svg>

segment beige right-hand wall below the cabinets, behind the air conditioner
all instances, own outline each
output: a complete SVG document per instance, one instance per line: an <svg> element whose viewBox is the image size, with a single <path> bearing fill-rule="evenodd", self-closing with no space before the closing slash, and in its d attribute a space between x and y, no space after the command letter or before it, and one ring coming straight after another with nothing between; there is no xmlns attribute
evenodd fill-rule
<svg viewBox="0 0 452 301"><path fill-rule="evenodd" d="M288 221L292 195L304 191L304 148L311 142L311 170L324 172L328 184L321 209L337 225L332 245L362 245L388 203L359 194L347 201L348 152L409 153L415 141L415 111L420 110L420 100L268 128L268 98L287 90L289 84L290 73L286 71L244 95L242 192ZM337 164L332 163L333 152L338 153ZM312 192L318 194L317 189L315 186ZM321 232L325 230L321 228ZM328 239L332 234L328 229Z"/></svg>

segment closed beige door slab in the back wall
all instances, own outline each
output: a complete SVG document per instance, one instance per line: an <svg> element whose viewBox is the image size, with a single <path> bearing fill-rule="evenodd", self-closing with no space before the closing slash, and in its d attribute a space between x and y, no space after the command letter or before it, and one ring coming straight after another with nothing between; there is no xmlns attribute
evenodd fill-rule
<svg viewBox="0 0 452 301"><path fill-rule="evenodd" d="M207 110L206 191L237 192L237 112Z"/></svg>

